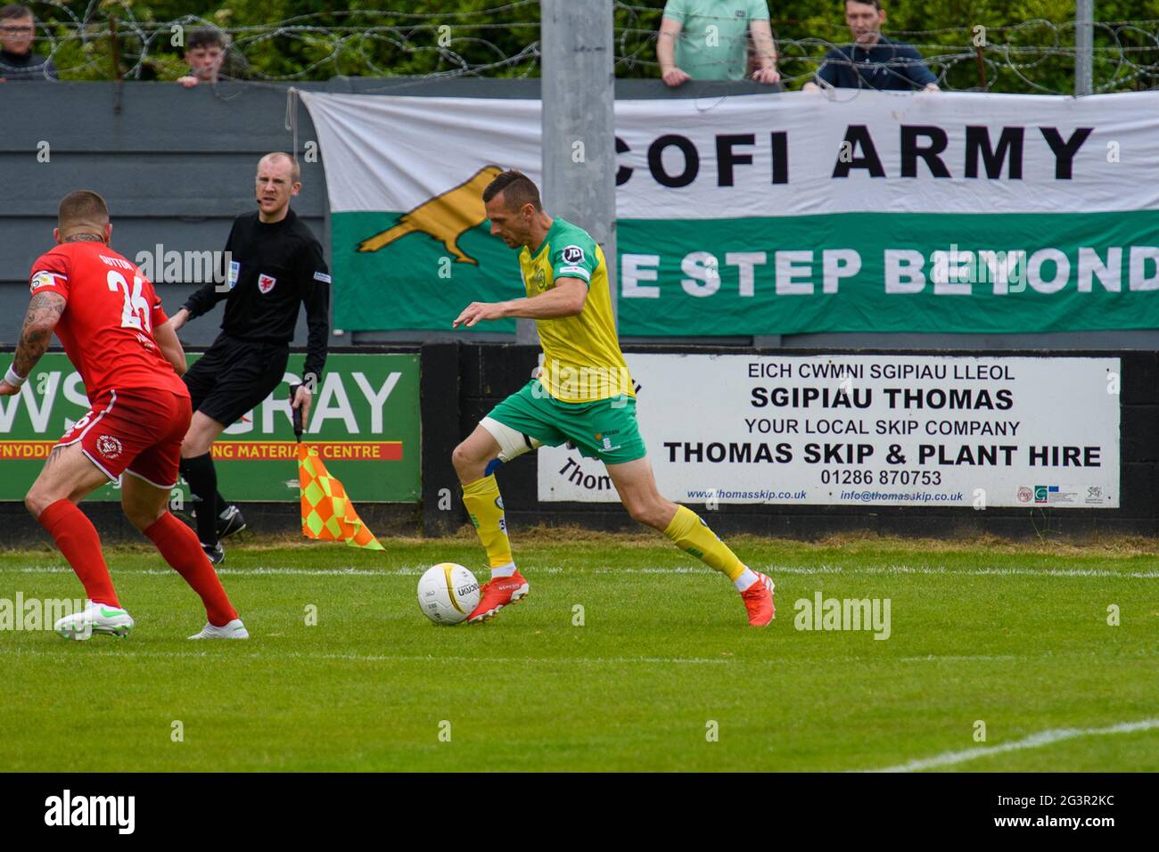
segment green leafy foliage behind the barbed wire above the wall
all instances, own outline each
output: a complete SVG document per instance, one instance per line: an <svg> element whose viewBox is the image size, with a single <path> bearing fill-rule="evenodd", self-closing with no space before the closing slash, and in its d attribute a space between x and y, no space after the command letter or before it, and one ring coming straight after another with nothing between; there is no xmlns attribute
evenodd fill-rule
<svg viewBox="0 0 1159 852"><path fill-rule="evenodd" d="M663 6L659 0L615 2L618 77L658 75L656 30ZM540 68L535 0L227 0L202 7L180 0L72 0L32 7L44 23L41 50L53 53L63 79L115 77L115 41L119 68L130 79L175 79L185 65L183 49L173 44L173 28L184 27L188 34L209 23L231 34L254 80L537 77ZM811 78L829 48L850 41L844 8L840 0L771 3L789 88ZM1154 0L1099 0L1095 8L1095 89L1159 85ZM943 88L1071 93L1073 19L1074 0L898 1L887 2L885 30L918 45Z"/></svg>

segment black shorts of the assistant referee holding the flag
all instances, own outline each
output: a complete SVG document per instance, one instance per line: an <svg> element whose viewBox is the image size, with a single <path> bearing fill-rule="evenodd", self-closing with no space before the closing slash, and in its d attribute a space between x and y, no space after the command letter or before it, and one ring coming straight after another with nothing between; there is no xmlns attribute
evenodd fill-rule
<svg viewBox="0 0 1159 852"><path fill-rule="evenodd" d="M228 427L282 384L290 347L255 343L226 334L182 377L195 412Z"/></svg>

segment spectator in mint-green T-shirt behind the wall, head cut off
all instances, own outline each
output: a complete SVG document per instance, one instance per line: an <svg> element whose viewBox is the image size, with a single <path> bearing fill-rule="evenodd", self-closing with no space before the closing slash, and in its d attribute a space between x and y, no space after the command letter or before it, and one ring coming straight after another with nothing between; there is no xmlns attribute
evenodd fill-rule
<svg viewBox="0 0 1159 852"><path fill-rule="evenodd" d="M750 34L758 66L752 79L778 82L777 45L765 0L668 0L656 41L664 82L743 80Z"/></svg>

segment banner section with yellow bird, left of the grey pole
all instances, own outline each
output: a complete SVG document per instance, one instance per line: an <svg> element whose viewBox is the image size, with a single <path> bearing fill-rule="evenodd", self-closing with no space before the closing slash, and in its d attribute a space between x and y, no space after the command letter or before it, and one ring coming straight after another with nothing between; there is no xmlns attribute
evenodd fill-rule
<svg viewBox="0 0 1159 852"><path fill-rule="evenodd" d="M483 189L506 168L539 180L538 101L510 101L501 126L489 100L301 95L326 167L335 328L447 329L469 301L522 294Z"/></svg>

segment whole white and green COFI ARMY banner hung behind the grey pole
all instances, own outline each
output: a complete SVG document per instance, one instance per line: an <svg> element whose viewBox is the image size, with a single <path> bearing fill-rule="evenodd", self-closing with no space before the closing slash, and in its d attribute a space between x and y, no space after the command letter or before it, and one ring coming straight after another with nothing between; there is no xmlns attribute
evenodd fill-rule
<svg viewBox="0 0 1159 852"><path fill-rule="evenodd" d="M1159 92L845 95L617 102L621 334L1159 327ZM541 182L539 101L302 99L336 327L523 292L481 194Z"/></svg>

